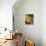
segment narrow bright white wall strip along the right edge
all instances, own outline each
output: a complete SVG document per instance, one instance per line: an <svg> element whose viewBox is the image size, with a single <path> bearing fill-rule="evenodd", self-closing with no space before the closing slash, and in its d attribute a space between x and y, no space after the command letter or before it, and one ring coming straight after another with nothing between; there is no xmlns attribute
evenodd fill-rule
<svg viewBox="0 0 46 46"><path fill-rule="evenodd" d="M46 0L41 1L41 40L42 46L46 46Z"/></svg>

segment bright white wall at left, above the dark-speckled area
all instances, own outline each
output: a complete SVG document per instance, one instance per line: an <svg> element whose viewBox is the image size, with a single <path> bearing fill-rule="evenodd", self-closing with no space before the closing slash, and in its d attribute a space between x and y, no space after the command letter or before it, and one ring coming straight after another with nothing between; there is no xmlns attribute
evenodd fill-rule
<svg viewBox="0 0 46 46"><path fill-rule="evenodd" d="M16 0L0 0L0 27L12 28L12 6Z"/></svg>

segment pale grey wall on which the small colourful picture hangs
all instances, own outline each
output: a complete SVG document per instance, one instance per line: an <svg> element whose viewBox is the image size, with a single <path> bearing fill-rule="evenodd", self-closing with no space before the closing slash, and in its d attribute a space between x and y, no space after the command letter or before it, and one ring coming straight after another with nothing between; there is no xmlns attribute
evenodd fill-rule
<svg viewBox="0 0 46 46"><path fill-rule="evenodd" d="M19 2L19 1L18 1ZM23 0L21 4L13 6L13 14L15 18L15 28L18 32L22 32L25 38L34 40L36 46L41 46L41 1L40 0ZM34 14L34 24L26 25L25 14Z"/></svg>

